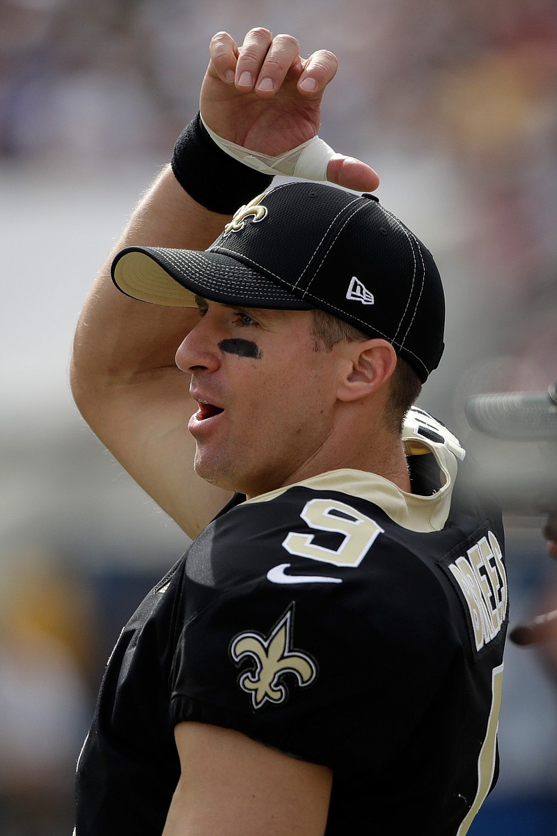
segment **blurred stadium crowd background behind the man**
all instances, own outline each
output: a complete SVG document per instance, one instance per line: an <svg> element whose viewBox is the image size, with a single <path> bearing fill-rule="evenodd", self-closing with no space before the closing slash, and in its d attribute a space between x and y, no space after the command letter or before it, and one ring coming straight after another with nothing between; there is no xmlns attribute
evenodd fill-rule
<svg viewBox="0 0 557 836"><path fill-rule="evenodd" d="M3 836L71 833L105 660L186 545L84 426L68 353L96 269L195 114L211 35L255 25L338 55L322 138L376 168L437 258L447 349L420 405L519 498L550 461L529 448L517 467L516 447L474 439L463 404L557 377L554 0L0 0ZM526 488L515 505L511 624L557 607L544 518ZM473 836L557 832L555 660L509 645L501 777Z"/></svg>

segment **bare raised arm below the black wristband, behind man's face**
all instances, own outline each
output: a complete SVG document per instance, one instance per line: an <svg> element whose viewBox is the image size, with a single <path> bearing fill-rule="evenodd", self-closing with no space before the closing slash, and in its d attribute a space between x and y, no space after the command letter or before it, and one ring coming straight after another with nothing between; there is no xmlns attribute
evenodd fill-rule
<svg viewBox="0 0 557 836"><path fill-rule="evenodd" d="M190 537L227 496L193 471L195 409L175 351L196 322L190 308L140 303L114 288L110 264L132 243L203 249L223 216L190 199L165 168L135 209L78 319L70 380L85 420L141 487ZM196 485L196 482L199 484Z"/></svg>

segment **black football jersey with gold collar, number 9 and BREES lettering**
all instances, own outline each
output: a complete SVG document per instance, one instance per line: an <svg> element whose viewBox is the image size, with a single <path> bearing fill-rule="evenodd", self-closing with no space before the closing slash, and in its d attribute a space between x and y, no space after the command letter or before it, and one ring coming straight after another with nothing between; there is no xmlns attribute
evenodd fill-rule
<svg viewBox="0 0 557 836"><path fill-rule="evenodd" d="M160 836L174 726L330 767L327 836L464 836L494 785L507 581L458 441L405 426L413 494L322 474L235 497L144 600L79 758L77 836Z"/></svg>

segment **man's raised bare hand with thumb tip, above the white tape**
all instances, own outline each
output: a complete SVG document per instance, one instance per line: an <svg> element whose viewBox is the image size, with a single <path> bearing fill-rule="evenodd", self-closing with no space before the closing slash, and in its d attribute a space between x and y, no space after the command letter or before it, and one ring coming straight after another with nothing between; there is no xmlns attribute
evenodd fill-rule
<svg viewBox="0 0 557 836"><path fill-rule="evenodd" d="M210 42L210 63L200 110L215 133L263 154L279 155L316 136L322 97L337 73L337 58L320 49L302 59L291 35L251 29L240 48L228 33ZM336 154L327 179L355 191L373 191L379 178L369 166Z"/></svg>

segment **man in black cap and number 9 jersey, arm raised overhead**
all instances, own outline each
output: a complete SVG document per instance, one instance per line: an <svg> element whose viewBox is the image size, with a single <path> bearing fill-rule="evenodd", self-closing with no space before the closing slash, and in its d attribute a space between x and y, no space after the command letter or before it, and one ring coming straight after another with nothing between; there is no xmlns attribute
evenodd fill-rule
<svg viewBox="0 0 557 836"><path fill-rule="evenodd" d="M313 141L336 69L216 35L203 122L78 324L79 408L196 539L111 656L77 836L449 836L494 782L499 513L406 415L443 351L437 268L371 195L261 174L377 187Z"/></svg>

